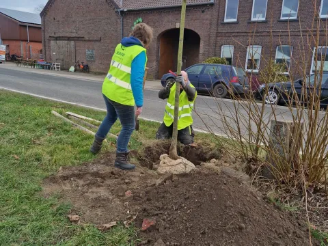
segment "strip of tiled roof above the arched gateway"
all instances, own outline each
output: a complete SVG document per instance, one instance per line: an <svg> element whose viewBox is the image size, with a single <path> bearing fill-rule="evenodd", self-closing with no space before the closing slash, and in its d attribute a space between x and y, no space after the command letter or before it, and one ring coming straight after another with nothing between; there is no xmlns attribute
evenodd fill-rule
<svg viewBox="0 0 328 246"><path fill-rule="evenodd" d="M112 0L124 10L145 10L152 8L170 8L181 6L181 0ZM214 0L187 0L187 5L213 4Z"/></svg>

